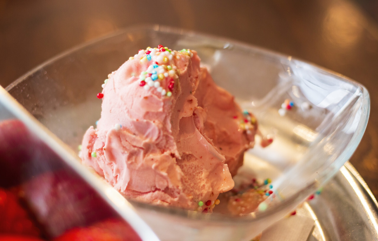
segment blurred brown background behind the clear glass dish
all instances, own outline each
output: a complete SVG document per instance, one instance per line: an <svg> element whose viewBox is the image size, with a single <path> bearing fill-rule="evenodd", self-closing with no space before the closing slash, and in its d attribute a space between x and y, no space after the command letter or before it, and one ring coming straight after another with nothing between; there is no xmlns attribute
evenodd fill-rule
<svg viewBox="0 0 378 241"><path fill-rule="evenodd" d="M146 23L272 49L362 83L370 119L350 161L378 197L376 0L0 0L0 85L73 46Z"/></svg>

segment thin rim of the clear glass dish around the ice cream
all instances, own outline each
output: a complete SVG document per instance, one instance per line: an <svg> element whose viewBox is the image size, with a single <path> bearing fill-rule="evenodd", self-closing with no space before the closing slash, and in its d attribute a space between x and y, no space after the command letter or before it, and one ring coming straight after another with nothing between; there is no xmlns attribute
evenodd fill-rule
<svg viewBox="0 0 378 241"><path fill-rule="evenodd" d="M320 66L313 64L313 63L310 63L308 61L302 61L299 58L293 58L293 57L288 56L288 55L280 54L280 53L277 53L277 52L274 52L274 51L271 51L271 50L268 50L268 49L264 49L264 48L261 48L261 47L258 47L258 46L253 46L253 45L243 43L243 42L240 42L240 41L237 41L237 40L231 40L231 39L228 39L228 38L218 37L218 36L214 36L214 35L203 34L203 33L198 33L198 32L194 32L194 31L188 31L188 30L184 30L182 28L175 28L175 27L162 26L162 25L135 25L135 26L131 26L131 27L128 27L128 28L125 28L125 29L120 29L116 32L105 35L103 37L96 38L94 40L88 41L88 42L83 43L81 45L77 45L77 46L75 46L71 49L68 49L67 51L62 52L61 54L56 55L55 57L45 61L44 63L40 64L36 68L32 69L31 71L27 72L26 74L22 75L20 78L18 78L17 80L15 80L11 84L9 84L9 86L7 86L5 89L6 89L6 91L10 91L17 84L19 84L20 82L25 80L26 77L28 77L29 75L32 75L33 73L37 72L39 69L43 68L44 66L51 64L54 61L59 60L60 58L64 58L64 57L66 57L66 56L68 56L68 55L70 55L70 54L72 54L76 51L79 51L81 49L85 49L86 47L90 47L92 45L101 44L102 41L105 41L109 38L115 38L115 37L120 36L122 34L133 33L133 32L141 32L141 31L142 32L143 31L167 32L167 33L170 33L170 34L177 34L177 35L190 35L191 37L199 37L199 38L204 38L204 39L209 39L209 40L217 40L218 42L223 42L223 43L230 43L232 45L239 46L239 47L242 47L242 48L246 48L246 49L249 49L249 50L254 51L256 53L259 53L259 54L262 54L262 55L265 55L265 56L268 56L268 57L271 57L271 58L277 58L277 59L286 60L286 61L290 58L290 61L296 61L296 63L309 65L309 66L311 66L311 68L314 68L317 71L326 72L328 74L331 74L331 75L334 75L338 78L341 78L342 80L344 80L346 82L352 83L353 85L358 86L362 90L362 94L363 94L363 103L362 104L366 106L366 111L365 111L365 114L364 113L361 114L361 117L365 118L365 119L364 119L364 121L360 121L360 123L358 125L357 131L359 132L359 134L353 135L352 139L349 141L349 144L348 144L349 148L346 148L339 155L339 157L343 156L345 161L347 161L352 156L353 152L355 151L356 147L358 146L359 142L361 141L361 138L363 137L363 134L364 134L366 126L367 126L367 121L369 119L370 99L369 99L369 94L367 92L367 89L362 84L360 84L356 81L353 81L352 79L345 77L344 75L339 74L335 71L331 71L329 69L320 67ZM76 157L76 159L79 159L79 158ZM70 163L67 163L67 164L70 165ZM82 166L82 168L86 168L86 167ZM77 172L79 173L79 175L81 175L80 170L77 170ZM336 171L335 171L335 173L336 173ZM333 173L331 176L333 176L335 173ZM329 179L330 178L328 178L328 180ZM324 183L322 183L322 184L324 184ZM93 185L93 183L92 183L92 185ZM264 212L253 212L253 213L249 213L248 215L244 215L244 216L232 216L232 215L226 215L226 214L221 214L221 213L211 213L211 215L210 214L202 214L202 213L199 213L199 212L184 210L184 209L180 209L180 208L176 208L176 207L155 206L155 205L142 203L142 202L138 202L138 201L133 201L133 200L129 200L129 199L127 199L127 201L129 201L131 204L133 204L136 207L140 207L140 208L143 208L143 209L149 209L149 210L152 210L152 211L158 211L158 212L161 212L161 213L166 213L166 214L171 214L171 215L178 215L178 216L181 216L183 218L191 218L193 220L207 220L207 221L214 221L214 222L228 222L228 221L235 222L236 221L236 222L244 223L244 222L251 222L251 221L253 221L253 222L254 221L261 221L264 218L271 216L274 213L276 213L276 212L278 212L282 209L285 209L285 208L293 206L293 205L297 206L302 201L305 201L305 199L308 197L308 195L313 193L314 190L316 190L316 188L318 188L318 187L319 187L319 183L314 181L314 182L308 184L306 187L304 187L302 189L302 191L295 193L294 195L286 198L285 200L282 200L280 203L275 203L274 205L269 206ZM104 189L102 189L102 191L104 191Z"/></svg>

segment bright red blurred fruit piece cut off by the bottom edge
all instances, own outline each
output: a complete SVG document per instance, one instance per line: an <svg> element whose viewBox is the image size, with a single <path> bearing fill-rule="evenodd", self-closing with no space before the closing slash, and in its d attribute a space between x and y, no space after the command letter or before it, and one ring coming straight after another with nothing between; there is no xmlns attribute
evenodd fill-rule
<svg viewBox="0 0 378 241"><path fill-rule="evenodd" d="M90 227L77 227L53 241L141 241L124 221L110 219Z"/></svg>

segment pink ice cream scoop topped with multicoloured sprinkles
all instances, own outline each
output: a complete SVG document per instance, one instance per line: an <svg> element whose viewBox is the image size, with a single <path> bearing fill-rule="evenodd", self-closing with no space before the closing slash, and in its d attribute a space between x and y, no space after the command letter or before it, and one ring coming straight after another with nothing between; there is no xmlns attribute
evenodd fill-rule
<svg viewBox="0 0 378 241"><path fill-rule="evenodd" d="M186 49L140 50L103 87L83 163L127 198L211 212L254 144L254 117Z"/></svg>

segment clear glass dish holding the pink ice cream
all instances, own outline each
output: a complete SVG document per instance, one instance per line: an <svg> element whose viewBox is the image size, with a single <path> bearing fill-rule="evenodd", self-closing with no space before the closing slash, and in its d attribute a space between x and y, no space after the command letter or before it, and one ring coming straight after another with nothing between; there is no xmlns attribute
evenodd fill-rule
<svg viewBox="0 0 378 241"><path fill-rule="evenodd" d="M265 201L266 209L240 217L130 201L161 240L250 240L324 185L363 136L370 104L361 84L290 56L158 25L128 28L79 46L6 90L76 150L85 130L100 117L96 94L107 74L139 49L159 44L196 50L215 82L256 115L260 130L274 141L248 151L240 175L271 178L276 194ZM294 103L290 110L283 109L286 99ZM118 195L109 198L120 201Z"/></svg>

